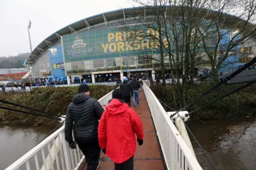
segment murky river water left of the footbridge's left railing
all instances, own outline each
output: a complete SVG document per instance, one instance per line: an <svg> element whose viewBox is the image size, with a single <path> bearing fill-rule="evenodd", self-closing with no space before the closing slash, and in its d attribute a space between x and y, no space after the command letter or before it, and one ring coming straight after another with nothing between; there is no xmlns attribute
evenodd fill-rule
<svg viewBox="0 0 256 170"><path fill-rule="evenodd" d="M0 126L0 170L4 170L32 149L52 129L46 126Z"/></svg>

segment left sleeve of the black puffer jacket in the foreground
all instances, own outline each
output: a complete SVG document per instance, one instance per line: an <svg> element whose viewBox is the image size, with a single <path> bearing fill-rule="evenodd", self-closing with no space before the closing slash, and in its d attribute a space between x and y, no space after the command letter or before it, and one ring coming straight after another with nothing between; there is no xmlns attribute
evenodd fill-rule
<svg viewBox="0 0 256 170"><path fill-rule="evenodd" d="M70 105L68 106L67 113L66 113L66 121L65 121L65 139L67 142L73 140L72 137L72 128L73 128L73 117L72 113L70 112Z"/></svg>

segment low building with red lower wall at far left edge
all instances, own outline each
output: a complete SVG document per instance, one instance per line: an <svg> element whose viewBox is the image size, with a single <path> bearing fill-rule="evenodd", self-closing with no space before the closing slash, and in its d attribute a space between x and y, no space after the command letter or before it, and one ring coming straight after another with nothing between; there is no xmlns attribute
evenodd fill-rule
<svg viewBox="0 0 256 170"><path fill-rule="evenodd" d="M19 79L22 79L22 77L24 77L24 75L26 75L27 72L28 72L27 68L0 69L0 80L4 80L4 81L19 80Z"/></svg>

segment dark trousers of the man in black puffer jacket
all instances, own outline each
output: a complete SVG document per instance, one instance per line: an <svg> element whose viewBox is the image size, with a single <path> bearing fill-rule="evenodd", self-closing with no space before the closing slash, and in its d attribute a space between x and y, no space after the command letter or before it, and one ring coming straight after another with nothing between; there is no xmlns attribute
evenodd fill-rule
<svg viewBox="0 0 256 170"><path fill-rule="evenodd" d="M82 150L87 162L87 170L96 170L100 159L100 145L98 137L75 137L76 143Z"/></svg>

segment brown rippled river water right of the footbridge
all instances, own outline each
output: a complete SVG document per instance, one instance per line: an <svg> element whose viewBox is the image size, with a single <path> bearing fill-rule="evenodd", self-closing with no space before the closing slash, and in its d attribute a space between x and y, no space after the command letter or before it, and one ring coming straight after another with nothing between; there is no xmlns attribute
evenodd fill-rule
<svg viewBox="0 0 256 170"><path fill-rule="evenodd" d="M218 170L256 170L256 117L197 122L189 127ZM212 170L190 139L202 168Z"/></svg>

